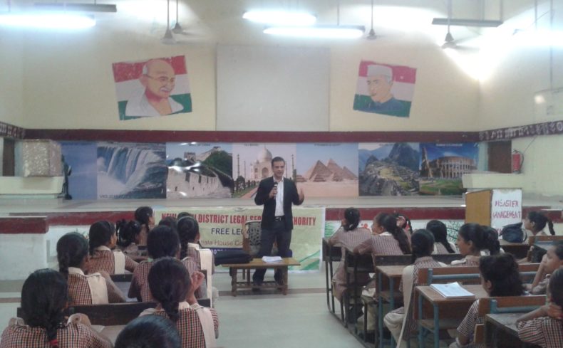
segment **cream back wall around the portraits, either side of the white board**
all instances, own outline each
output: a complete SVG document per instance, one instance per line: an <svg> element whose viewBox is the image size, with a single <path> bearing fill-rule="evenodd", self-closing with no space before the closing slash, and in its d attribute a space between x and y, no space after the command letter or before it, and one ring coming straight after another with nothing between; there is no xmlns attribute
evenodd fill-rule
<svg viewBox="0 0 563 348"><path fill-rule="evenodd" d="M216 46L147 43L138 34L104 31L28 36L24 48L25 127L39 129L215 130ZM298 44L294 43L295 46ZM158 119L120 121L111 64L185 55L193 112ZM408 119L352 110L361 60L417 68ZM367 40L331 46L331 131L477 130L478 83L438 46ZM241 81L244 88L244 81ZM274 127L274 126L272 126ZM275 130L275 129L272 129Z"/></svg>

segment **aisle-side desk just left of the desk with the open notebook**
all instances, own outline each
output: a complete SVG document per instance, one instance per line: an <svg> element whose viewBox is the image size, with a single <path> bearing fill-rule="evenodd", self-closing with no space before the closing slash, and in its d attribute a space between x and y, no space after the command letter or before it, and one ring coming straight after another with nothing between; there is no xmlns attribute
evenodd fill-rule
<svg viewBox="0 0 563 348"><path fill-rule="evenodd" d="M395 309L395 297L398 285L403 276L403 269L407 265L388 265L377 266L377 293L378 293L378 327L379 327L379 347L383 348L383 301L389 303L390 310ZM385 282L387 280L387 282ZM385 285L388 285L385 286ZM396 289L397 288L397 289ZM397 291L398 292L398 291ZM398 292L399 293L399 292ZM394 339L391 337L391 347Z"/></svg>

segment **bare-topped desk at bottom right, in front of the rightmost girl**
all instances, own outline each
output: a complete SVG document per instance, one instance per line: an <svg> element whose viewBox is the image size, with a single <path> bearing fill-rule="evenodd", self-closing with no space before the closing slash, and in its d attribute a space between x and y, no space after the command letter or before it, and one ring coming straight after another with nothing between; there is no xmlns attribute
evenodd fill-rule
<svg viewBox="0 0 563 348"><path fill-rule="evenodd" d="M522 342L518 338L516 320L524 314L487 314L485 316L486 347L537 347L534 344Z"/></svg>

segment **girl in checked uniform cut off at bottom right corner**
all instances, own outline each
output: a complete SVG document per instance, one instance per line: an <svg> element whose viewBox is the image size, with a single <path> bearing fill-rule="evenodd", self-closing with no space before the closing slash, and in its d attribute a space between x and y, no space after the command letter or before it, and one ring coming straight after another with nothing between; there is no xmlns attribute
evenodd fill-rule
<svg viewBox="0 0 563 348"><path fill-rule="evenodd" d="M549 282L549 305L523 315L516 322L522 341L542 348L563 347L563 269L556 270Z"/></svg>

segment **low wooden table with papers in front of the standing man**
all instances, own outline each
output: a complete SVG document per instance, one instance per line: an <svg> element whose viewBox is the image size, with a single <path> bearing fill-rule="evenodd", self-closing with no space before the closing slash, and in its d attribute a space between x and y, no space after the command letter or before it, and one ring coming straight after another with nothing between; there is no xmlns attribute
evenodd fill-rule
<svg viewBox="0 0 563 348"><path fill-rule="evenodd" d="M262 268L273 268L274 270L282 270L284 274L284 283L279 285L276 282L264 282L259 288L277 288L282 290L284 295L287 295L287 268L289 266L299 266L298 260L294 258L282 258L279 262L264 262L262 258L254 258L249 263L223 263L223 267L230 268L229 273L231 274L231 295L237 296L237 290L252 290L254 285L252 285L252 280L247 277L247 280L239 282L237 281L238 270L256 270Z"/></svg>

